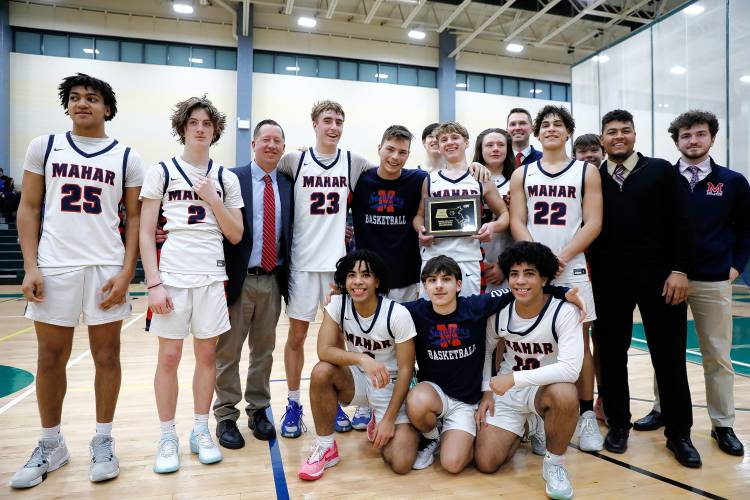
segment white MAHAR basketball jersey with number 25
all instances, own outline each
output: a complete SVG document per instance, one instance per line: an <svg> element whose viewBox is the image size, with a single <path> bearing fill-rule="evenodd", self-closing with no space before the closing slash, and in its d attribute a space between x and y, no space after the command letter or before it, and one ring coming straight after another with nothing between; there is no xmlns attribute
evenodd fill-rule
<svg viewBox="0 0 750 500"><path fill-rule="evenodd" d="M49 137L39 267L123 265L118 205L130 148L112 140L86 153L70 132Z"/></svg>

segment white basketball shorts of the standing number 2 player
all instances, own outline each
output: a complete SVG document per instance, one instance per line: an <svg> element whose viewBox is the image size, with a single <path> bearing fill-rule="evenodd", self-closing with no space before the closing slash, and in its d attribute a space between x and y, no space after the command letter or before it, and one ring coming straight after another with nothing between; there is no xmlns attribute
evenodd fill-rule
<svg viewBox="0 0 750 500"><path fill-rule="evenodd" d="M174 310L168 314L154 314L150 332L166 339L182 340L189 334L197 339L216 337L229 331L229 312L224 282L195 288L164 285L172 299Z"/></svg>

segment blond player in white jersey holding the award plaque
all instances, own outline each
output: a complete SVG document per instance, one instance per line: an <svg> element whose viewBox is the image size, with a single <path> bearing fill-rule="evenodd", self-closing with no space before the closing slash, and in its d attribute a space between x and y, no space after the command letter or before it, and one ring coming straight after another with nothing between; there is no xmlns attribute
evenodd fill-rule
<svg viewBox="0 0 750 500"><path fill-rule="evenodd" d="M440 152L446 161L446 168L430 173L422 189L423 203L414 217L414 229L422 245L422 266L433 257L447 255L455 260L463 275L461 295L469 296L480 292L482 251L480 242L490 241L493 234L508 228L508 210L491 181L478 182L468 170L466 148L469 146L469 132L460 123L446 122L435 130L440 143ZM487 204L497 220L485 223L473 236L436 238L426 234L424 200L430 197L477 195ZM422 288L422 296L426 296Z"/></svg>

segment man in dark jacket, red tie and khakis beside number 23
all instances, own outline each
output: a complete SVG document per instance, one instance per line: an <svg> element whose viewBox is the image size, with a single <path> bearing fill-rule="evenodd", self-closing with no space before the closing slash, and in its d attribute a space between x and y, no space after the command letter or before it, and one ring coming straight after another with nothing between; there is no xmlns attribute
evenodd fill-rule
<svg viewBox="0 0 750 500"><path fill-rule="evenodd" d="M240 180L244 233L237 245L224 242L227 265L227 303L231 330L216 346L216 436L225 448L245 445L236 408L242 400L239 362L247 339L250 366L245 401L257 439L276 436L266 409L271 401L270 378L281 297L286 300L292 234L292 181L276 171L284 153L284 131L273 120L259 122L253 131L255 159L232 169Z"/></svg>

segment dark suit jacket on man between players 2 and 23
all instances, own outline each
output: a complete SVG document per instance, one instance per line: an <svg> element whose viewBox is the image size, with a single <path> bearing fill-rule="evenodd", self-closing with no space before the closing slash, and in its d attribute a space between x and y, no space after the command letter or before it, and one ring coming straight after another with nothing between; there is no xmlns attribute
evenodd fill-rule
<svg viewBox="0 0 750 500"><path fill-rule="evenodd" d="M230 169L240 180L242 189L242 201L245 207L242 209L242 241L232 245L224 240L224 258L227 261L227 304L234 303L239 298L242 285L247 276L247 265L250 262L250 254L253 249L253 178L250 165ZM292 250L292 180L281 172L276 172L276 180L279 187L279 198L281 199L281 255L284 265L275 271L279 281L281 295L286 300L289 289L289 259ZM263 228L255 228L262 231Z"/></svg>

